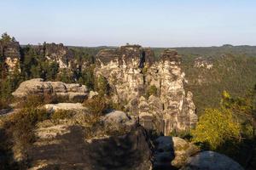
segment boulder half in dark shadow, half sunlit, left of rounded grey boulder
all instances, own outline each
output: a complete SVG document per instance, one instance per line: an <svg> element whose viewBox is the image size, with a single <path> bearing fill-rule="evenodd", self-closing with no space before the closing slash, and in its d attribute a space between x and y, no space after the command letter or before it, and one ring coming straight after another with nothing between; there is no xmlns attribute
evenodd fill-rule
<svg viewBox="0 0 256 170"><path fill-rule="evenodd" d="M155 140L155 143L155 169L183 167L189 156L199 151L194 144L189 144L184 139L178 137L161 136Z"/></svg>

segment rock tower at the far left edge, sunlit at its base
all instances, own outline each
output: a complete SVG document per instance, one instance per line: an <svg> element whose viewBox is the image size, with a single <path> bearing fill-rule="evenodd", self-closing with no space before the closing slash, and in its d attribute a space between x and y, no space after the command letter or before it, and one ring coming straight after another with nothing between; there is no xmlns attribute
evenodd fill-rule
<svg viewBox="0 0 256 170"><path fill-rule="evenodd" d="M1 57L9 73L20 72L20 44L19 42L0 43Z"/></svg>

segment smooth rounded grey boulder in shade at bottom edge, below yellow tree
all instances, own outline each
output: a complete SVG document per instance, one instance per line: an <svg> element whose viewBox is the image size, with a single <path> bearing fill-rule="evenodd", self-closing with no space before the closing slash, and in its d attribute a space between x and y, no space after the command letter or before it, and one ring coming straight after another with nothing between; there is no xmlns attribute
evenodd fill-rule
<svg viewBox="0 0 256 170"><path fill-rule="evenodd" d="M203 151L191 156L181 170L242 170L243 167L230 157L214 151Z"/></svg>

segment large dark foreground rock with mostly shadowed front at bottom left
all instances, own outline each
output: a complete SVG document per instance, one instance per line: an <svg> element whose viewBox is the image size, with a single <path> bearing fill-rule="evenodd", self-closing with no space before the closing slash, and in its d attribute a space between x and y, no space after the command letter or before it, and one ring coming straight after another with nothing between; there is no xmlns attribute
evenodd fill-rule
<svg viewBox="0 0 256 170"><path fill-rule="evenodd" d="M113 115L113 119L106 117L113 120L112 124L128 121L122 113L115 111ZM133 126L122 135L90 140L85 139L86 133L86 127L75 124L38 124L37 141L28 153L31 169L151 169L151 150L143 127Z"/></svg>

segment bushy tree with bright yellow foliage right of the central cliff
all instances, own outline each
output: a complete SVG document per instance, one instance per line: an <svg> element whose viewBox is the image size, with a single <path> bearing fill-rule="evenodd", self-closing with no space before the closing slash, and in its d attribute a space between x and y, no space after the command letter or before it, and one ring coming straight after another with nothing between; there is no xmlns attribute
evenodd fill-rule
<svg viewBox="0 0 256 170"><path fill-rule="evenodd" d="M240 131L239 123L229 110L207 109L191 133L195 143L207 144L216 150L226 140L238 141Z"/></svg>

